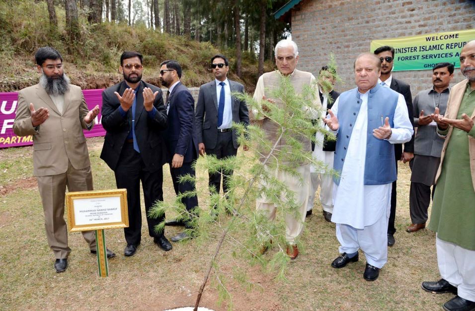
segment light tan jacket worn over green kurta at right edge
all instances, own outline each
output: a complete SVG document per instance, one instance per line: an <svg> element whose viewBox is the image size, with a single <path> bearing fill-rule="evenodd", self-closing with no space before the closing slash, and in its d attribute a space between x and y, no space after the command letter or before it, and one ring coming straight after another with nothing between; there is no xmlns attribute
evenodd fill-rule
<svg viewBox="0 0 475 311"><path fill-rule="evenodd" d="M462 103L462 98L464 98L465 91L467 89L467 82L468 79L463 80L460 83L457 83L452 87L450 90L449 101L447 102L447 110L445 112L445 117L449 119L456 119L457 115L459 114L460 104ZM475 110L472 113L471 118L475 117ZM439 170L437 171L437 175L435 177L435 182L439 179L440 172L442 171L442 163L444 163L445 157L445 150L447 149L447 145L449 144L450 136L452 135L452 131L454 127L452 125L449 126L449 132L445 137L444 146L442 147L442 155L440 157L440 165ZM475 137L468 135L469 137L469 155L470 155L470 170L472 172L472 185L474 186L475 191Z"/></svg>

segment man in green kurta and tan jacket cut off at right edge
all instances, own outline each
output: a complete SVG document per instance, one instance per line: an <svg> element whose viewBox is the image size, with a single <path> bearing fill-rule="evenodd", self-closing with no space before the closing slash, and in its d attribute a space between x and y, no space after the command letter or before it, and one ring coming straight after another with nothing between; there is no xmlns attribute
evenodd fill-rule
<svg viewBox="0 0 475 311"><path fill-rule="evenodd" d="M460 53L460 70L468 79L449 95L445 116L433 120L445 137L429 229L435 231L442 279L422 282L432 293L453 293L444 310L475 310L475 40Z"/></svg>

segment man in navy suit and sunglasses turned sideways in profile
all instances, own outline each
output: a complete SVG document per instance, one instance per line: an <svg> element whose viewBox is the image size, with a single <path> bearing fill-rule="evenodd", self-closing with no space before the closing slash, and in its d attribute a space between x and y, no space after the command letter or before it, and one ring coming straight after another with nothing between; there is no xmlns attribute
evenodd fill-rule
<svg viewBox="0 0 475 311"><path fill-rule="evenodd" d="M194 183L179 182L180 176L195 176L192 162L198 158L198 139L194 131L195 101L190 91L181 84L181 66L177 61L164 61L160 67L161 84L168 88L166 93L166 114L168 115L168 127L164 131L168 158L170 159L170 174L175 193L195 191ZM198 197L183 197L181 199L189 215L198 206ZM166 225L185 226L192 229L188 221L170 221ZM185 238L191 238L185 232L181 232L171 238L177 242Z"/></svg>

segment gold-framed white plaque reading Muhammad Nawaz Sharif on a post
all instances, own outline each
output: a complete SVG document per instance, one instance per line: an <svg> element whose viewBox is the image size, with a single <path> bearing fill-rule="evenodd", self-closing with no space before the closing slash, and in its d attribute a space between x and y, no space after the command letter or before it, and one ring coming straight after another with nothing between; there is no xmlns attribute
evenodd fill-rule
<svg viewBox="0 0 475 311"><path fill-rule="evenodd" d="M66 193L69 231L129 227L127 189Z"/></svg>

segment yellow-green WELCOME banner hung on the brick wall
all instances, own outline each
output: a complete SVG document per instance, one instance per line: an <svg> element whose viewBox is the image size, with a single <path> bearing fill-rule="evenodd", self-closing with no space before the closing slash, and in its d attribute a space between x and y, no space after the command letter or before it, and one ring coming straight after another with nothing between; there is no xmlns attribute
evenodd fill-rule
<svg viewBox="0 0 475 311"><path fill-rule="evenodd" d="M475 39L475 29L371 41L371 52L388 45L396 52L393 71L431 69L439 62L460 67L460 51Z"/></svg>

